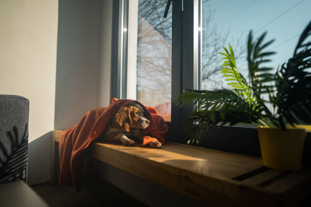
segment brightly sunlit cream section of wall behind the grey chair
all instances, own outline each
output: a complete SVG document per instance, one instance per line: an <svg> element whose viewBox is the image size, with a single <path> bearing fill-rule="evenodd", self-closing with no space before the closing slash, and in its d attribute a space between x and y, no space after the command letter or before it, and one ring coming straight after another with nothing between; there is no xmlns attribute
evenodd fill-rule
<svg viewBox="0 0 311 207"><path fill-rule="evenodd" d="M29 99L29 143L54 128L58 1L0 1L0 94Z"/></svg>

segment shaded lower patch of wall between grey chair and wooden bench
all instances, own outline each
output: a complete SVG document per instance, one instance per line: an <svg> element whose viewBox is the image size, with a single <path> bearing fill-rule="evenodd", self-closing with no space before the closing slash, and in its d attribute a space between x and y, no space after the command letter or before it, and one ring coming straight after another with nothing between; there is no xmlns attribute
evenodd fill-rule
<svg viewBox="0 0 311 207"><path fill-rule="evenodd" d="M50 181L52 132L48 132L28 143L28 184Z"/></svg>

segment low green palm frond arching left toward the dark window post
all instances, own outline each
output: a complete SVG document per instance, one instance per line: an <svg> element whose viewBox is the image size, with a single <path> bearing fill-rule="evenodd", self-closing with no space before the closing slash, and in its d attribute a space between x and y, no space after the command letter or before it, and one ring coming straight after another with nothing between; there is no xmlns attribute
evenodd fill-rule
<svg viewBox="0 0 311 207"><path fill-rule="evenodd" d="M199 142L204 134L204 130L211 129L220 124L233 125L239 122L258 122L262 115L250 106L249 102L241 98L235 91L220 89L214 91L186 90L178 97L179 102L198 103L198 109L193 112L186 123L198 123L187 133L189 144Z"/></svg>

